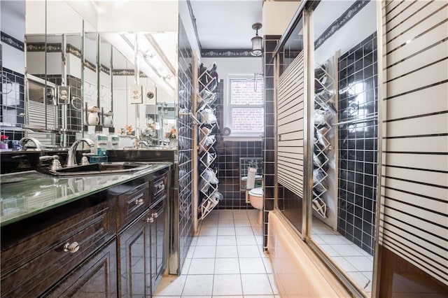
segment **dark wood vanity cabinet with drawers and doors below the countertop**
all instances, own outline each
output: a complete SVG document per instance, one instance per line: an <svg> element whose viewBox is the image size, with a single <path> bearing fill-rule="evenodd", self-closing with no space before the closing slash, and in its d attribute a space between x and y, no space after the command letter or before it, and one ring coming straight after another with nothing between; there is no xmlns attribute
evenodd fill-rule
<svg viewBox="0 0 448 298"><path fill-rule="evenodd" d="M1 296L151 297L167 262L169 170L2 222Z"/></svg>

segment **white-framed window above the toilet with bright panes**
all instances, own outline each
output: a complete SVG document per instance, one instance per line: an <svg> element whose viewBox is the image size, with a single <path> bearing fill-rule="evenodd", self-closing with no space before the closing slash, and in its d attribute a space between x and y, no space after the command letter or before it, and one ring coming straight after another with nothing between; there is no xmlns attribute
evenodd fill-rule
<svg viewBox="0 0 448 298"><path fill-rule="evenodd" d="M230 136L262 136L265 121L264 87L262 76L229 76L224 126L231 129Z"/></svg>

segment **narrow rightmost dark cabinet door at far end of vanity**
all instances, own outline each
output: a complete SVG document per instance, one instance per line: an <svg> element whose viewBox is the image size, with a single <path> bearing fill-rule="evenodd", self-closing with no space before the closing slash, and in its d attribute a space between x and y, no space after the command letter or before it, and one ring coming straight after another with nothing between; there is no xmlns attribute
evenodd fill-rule
<svg viewBox="0 0 448 298"><path fill-rule="evenodd" d="M151 287L153 293L157 288L160 278L166 269L165 262L165 248L167 239L165 237L165 208L161 201L158 208L154 208L151 211L151 216L154 219L150 223L151 227Z"/></svg>

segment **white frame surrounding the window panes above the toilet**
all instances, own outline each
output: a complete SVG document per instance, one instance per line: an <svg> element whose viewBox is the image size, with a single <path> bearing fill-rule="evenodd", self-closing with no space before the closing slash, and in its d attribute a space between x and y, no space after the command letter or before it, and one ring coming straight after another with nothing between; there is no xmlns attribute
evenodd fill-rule
<svg viewBox="0 0 448 298"><path fill-rule="evenodd" d="M265 90L264 90L264 77L257 76L257 80L262 82L260 86L262 88L262 98L261 104L231 104L232 101L232 81L233 80L253 80L255 74L254 73L232 73L228 75L226 93L224 97L223 104L223 126L228 127L231 130L231 133L228 136L223 136L224 139L245 139L246 141L261 141L262 136L264 135L264 126L265 126ZM261 132L233 132L232 127L232 108L262 108L263 109L263 127Z"/></svg>

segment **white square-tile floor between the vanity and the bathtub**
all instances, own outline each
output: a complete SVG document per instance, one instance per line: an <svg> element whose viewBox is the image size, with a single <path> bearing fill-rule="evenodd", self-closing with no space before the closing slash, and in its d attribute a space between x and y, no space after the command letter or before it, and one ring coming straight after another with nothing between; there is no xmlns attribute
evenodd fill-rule
<svg viewBox="0 0 448 298"><path fill-rule="evenodd" d="M211 211L193 237L181 275L164 276L155 297L279 298L257 215Z"/></svg>

